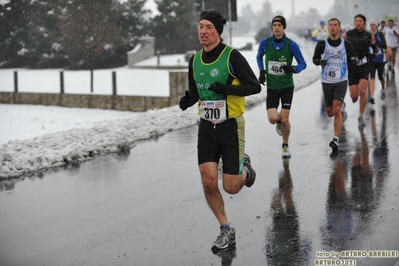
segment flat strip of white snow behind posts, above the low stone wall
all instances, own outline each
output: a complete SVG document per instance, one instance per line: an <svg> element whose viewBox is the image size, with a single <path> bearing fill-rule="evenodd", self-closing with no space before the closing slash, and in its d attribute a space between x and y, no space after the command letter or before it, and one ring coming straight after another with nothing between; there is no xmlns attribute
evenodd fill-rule
<svg viewBox="0 0 399 266"><path fill-rule="evenodd" d="M66 94L112 95L112 72L115 71L118 95L169 96L169 90L165 89L165 84L169 84L168 70L127 67L94 70L91 92L89 70L1 69L1 91L14 91L14 71L18 73L19 92L60 93L60 72L63 71Z"/></svg>

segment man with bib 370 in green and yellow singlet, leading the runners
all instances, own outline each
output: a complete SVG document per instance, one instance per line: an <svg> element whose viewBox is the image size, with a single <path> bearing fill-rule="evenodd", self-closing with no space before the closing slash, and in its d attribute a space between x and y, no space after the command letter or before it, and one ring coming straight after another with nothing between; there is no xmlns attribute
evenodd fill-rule
<svg viewBox="0 0 399 266"><path fill-rule="evenodd" d="M216 10L200 15L198 37L203 49L189 63L189 90L180 99L184 111L198 102L198 165L205 198L220 224L214 241L219 249L236 241L235 228L227 219L224 200L218 187L218 164L223 163L223 188L236 194L255 182L255 171L245 154L245 96L261 87L241 53L222 43L226 19Z"/></svg>

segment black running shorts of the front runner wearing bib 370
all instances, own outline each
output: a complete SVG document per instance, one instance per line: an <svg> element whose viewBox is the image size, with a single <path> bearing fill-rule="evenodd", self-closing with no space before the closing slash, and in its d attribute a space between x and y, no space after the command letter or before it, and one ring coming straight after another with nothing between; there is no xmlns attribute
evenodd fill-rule
<svg viewBox="0 0 399 266"><path fill-rule="evenodd" d="M198 127L198 165L223 162L223 173L242 173L245 151L245 120L243 116L229 118L220 124L201 119Z"/></svg>

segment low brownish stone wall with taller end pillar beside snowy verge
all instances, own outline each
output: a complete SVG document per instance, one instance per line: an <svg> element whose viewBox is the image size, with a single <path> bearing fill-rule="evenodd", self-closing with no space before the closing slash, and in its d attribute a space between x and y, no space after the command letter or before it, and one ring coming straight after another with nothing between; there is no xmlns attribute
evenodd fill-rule
<svg viewBox="0 0 399 266"><path fill-rule="evenodd" d="M188 88L187 72L169 72L169 97L0 92L0 103L145 112L179 103Z"/></svg>

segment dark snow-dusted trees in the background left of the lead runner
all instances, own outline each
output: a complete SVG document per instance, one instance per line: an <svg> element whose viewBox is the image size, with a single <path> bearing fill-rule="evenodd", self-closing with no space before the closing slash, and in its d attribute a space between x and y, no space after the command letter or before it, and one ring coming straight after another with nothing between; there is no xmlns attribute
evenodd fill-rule
<svg viewBox="0 0 399 266"><path fill-rule="evenodd" d="M99 69L127 64L142 36L179 53L198 43L194 0L11 0L0 4L0 68ZM188 46L188 47L187 47Z"/></svg>

